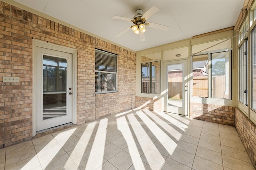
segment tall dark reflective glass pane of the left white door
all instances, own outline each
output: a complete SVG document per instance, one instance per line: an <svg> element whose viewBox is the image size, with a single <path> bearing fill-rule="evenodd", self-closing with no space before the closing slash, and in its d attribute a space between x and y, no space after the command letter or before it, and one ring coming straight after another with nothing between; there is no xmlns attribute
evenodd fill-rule
<svg viewBox="0 0 256 170"><path fill-rule="evenodd" d="M43 57L43 120L66 115L67 60Z"/></svg>

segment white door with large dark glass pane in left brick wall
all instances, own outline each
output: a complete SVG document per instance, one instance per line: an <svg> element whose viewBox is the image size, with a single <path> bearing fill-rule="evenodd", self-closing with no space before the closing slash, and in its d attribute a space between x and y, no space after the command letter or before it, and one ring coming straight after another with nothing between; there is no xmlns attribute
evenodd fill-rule
<svg viewBox="0 0 256 170"><path fill-rule="evenodd" d="M36 51L36 131L41 131L72 122L72 54Z"/></svg>

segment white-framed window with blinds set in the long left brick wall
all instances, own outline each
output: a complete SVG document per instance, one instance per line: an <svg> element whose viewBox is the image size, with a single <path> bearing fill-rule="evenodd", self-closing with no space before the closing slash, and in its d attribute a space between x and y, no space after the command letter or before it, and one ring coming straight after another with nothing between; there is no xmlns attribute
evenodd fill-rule
<svg viewBox="0 0 256 170"><path fill-rule="evenodd" d="M117 92L117 55L95 49L95 93Z"/></svg>

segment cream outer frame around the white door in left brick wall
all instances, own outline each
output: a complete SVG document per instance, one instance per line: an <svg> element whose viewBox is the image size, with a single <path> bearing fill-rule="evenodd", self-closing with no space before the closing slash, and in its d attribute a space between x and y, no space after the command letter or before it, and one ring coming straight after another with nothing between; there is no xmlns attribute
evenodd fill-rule
<svg viewBox="0 0 256 170"><path fill-rule="evenodd" d="M51 50L55 50L55 51L61 51L64 53L71 53L72 54L72 123L76 124L77 122L77 106L76 106L76 99L77 99L77 49L72 49L72 48L68 48L68 47L63 47L60 45L56 45L53 43L48 43L45 41L40 41L40 40L36 40L33 39L32 40L32 58L33 58L33 69L32 69L32 75L33 75L33 80L32 80L32 95L33 95L33 99L37 98L36 92L38 90L40 90L40 85L38 84L38 82L36 82L36 78L34 78L36 76L36 57L37 57L37 47L41 47L41 48L46 48L46 49L51 49ZM36 135L36 123L37 123L37 114L36 114L36 108L37 107L37 103L32 102L32 136Z"/></svg>

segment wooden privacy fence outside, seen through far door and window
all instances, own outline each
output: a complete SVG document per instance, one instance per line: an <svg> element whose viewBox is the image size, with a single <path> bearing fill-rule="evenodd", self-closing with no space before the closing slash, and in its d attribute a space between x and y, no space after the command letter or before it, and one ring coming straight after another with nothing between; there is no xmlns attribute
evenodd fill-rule
<svg viewBox="0 0 256 170"><path fill-rule="evenodd" d="M208 77L193 77L192 96L208 97ZM182 77L168 78L168 98L182 99ZM212 77L212 98L224 98L225 76Z"/></svg>

